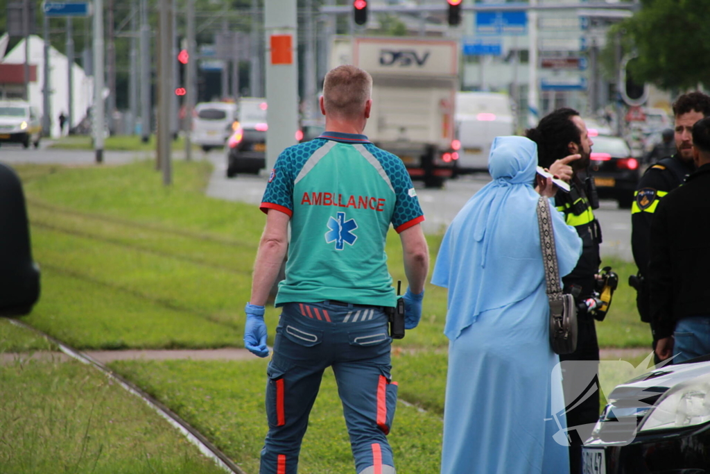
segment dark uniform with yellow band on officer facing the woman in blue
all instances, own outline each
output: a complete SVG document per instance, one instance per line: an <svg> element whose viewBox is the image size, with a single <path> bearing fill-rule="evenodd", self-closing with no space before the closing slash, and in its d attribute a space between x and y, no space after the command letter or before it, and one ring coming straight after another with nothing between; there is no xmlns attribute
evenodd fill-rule
<svg viewBox="0 0 710 474"><path fill-rule="evenodd" d="M599 244L601 244L601 227L599 221L594 217L594 208L583 183L578 176L574 176L570 183L569 193L559 192L555 196L557 210L564 214L567 225L571 225L577 230L577 234L582 240L581 257L574 267L572 273L562 279L564 292L571 293L572 287L581 289L578 301L591 297L594 292L596 279L594 276L599 273ZM585 360L599 361L599 343L596 340L596 327L594 317L587 313L578 313L577 316L577 350L571 354L560 355L559 360ZM564 365L563 365L564 367ZM589 380L591 382L591 380ZM574 374L564 374L562 377L562 387L564 389L565 406L569 406L581 395L579 392L579 381L575 380ZM584 387L582 387L584 388ZM579 406L567 412L567 426L581 426L594 424L599 419L599 389L595 389L591 395ZM581 465L581 443L584 441L576 431L570 431L572 447L569 451L569 463L571 473L578 473Z"/></svg>

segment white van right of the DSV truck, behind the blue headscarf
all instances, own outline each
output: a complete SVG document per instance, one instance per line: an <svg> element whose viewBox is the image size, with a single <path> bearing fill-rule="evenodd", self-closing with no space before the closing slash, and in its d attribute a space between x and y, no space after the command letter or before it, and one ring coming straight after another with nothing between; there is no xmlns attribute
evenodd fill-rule
<svg viewBox="0 0 710 474"><path fill-rule="evenodd" d="M457 173L488 171L493 139L515 134L513 102L498 92L457 92L456 124L461 142Z"/></svg>

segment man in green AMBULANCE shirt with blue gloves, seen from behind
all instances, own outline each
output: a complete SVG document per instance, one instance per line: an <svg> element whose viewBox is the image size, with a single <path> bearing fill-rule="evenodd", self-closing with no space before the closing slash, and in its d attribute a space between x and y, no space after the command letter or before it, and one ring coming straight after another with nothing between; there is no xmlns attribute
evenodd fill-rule
<svg viewBox="0 0 710 474"><path fill-rule="evenodd" d="M403 162L362 134L371 90L364 70L344 65L328 72L320 98L327 131L285 149L266 185L266 228L244 330L245 347L260 357L269 352L264 304L287 247L288 261L275 301L282 313L267 370L269 429L260 474L297 472L327 367L343 402L356 472L395 473L386 438L397 402L387 314L395 306L385 254L389 226L404 252L408 329L421 317L429 254L424 216Z"/></svg>

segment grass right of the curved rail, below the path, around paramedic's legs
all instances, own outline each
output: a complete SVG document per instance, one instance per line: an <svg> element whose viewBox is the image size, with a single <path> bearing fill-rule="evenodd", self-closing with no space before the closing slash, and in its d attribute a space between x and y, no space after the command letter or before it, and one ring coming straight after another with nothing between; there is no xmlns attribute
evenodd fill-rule
<svg viewBox="0 0 710 474"><path fill-rule="evenodd" d="M258 455L267 429L263 404L266 361L121 361L112 363L111 368L176 409L246 473L258 472ZM354 463L342 406L330 370L324 375L308 426L298 472L352 472ZM388 436L398 470L411 474L437 472L440 433L439 414L398 404Z"/></svg>

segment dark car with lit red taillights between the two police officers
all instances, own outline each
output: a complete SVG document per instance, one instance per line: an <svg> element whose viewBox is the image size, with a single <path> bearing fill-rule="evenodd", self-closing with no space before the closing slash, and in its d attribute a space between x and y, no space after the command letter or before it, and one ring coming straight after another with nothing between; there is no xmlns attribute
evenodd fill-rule
<svg viewBox="0 0 710 474"><path fill-rule="evenodd" d="M623 138L595 136L589 169L599 198L616 199L620 208L631 208L640 178L639 161Z"/></svg>

